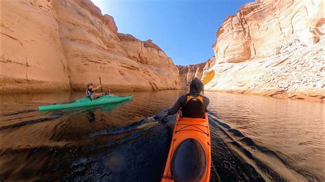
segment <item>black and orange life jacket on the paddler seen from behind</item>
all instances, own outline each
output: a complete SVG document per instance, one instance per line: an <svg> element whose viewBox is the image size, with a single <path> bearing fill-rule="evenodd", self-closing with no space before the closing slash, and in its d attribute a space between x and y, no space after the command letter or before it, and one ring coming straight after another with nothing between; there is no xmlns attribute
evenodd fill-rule
<svg viewBox="0 0 325 182"><path fill-rule="evenodd" d="M206 106L203 102L203 96L187 95L186 104L181 109L182 118L204 118Z"/></svg>

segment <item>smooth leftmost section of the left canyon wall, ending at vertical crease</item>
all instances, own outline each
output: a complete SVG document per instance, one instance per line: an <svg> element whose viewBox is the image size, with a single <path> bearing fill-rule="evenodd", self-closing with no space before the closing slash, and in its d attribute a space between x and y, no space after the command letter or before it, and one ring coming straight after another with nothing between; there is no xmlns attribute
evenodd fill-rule
<svg viewBox="0 0 325 182"><path fill-rule="evenodd" d="M58 21L51 3L1 1L1 92L69 90Z"/></svg>

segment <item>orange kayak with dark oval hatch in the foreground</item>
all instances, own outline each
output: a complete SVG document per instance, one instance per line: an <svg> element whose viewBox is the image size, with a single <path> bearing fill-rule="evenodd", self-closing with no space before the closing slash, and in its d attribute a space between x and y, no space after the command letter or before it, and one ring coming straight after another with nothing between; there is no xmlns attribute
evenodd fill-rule
<svg viewBox="0 0 325 182"><path fill-rule="evenodd" d="M180 118L178 113L161 181L209 181L210 165L208 115Z"/></svg>

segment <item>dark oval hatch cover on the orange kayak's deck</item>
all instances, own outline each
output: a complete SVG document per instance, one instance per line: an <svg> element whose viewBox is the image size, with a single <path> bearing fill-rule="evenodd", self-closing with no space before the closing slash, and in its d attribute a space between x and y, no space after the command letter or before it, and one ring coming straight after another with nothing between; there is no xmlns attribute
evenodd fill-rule
<svg viewBox="0 0 325 182"><path fill-rule="evenodd" d="M200 142L193 138L178 145L171 159L171 179L200 181L206 171L206 155Z"/></svg>

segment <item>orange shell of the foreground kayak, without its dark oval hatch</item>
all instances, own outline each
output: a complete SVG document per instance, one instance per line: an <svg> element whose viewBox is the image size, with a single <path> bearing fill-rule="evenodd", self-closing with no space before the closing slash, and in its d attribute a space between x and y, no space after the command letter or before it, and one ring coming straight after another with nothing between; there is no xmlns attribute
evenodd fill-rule
<svg viewBox="0 0 325 182"><path fill-rule="evenodd" d="M202 156L205 157L205 160L202 159L202 161L204 161L202 165L204 166L201 168L201 172L199 174L200 177L194 181L209 181L211 165L211 143L208 116L205 114L204 118L180 118L180 114L178 114L173 129L173 137L171 139L171 146L169 148L164 174L161 179L162 182L177 181L177 179L174 177L175 174L172 174L173 171L177 171L177 169L175 170L175 167L173 167L174 161L176 161L176 159L174 159L176 157L173 157L173 155L175 153L178 153L180 150L178 149L180 148L180 144L184 145L184 141L188 139L195 141L196 145L199 146L198 148L200 148L199 151L201 151L201 153L204 152L204 155ZM191 172L189 172L189 174L191 174ZM181 181L180 179L178 180Z"/></svg>

